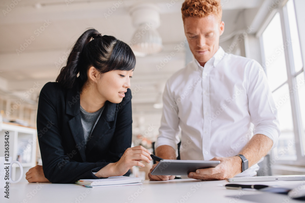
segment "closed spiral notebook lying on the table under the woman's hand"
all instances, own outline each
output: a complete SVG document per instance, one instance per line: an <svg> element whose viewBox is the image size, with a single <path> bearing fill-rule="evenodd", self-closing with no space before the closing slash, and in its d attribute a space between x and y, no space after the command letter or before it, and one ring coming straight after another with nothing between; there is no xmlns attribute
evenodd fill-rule
<svg viewBox="0 0 305 203"><path fill-rule="evenodd" d="M104 179L81 179L75 183L86 187L112 187L124 185L141 185L144 183L144 180L138 177L114 176Z"/></svg>

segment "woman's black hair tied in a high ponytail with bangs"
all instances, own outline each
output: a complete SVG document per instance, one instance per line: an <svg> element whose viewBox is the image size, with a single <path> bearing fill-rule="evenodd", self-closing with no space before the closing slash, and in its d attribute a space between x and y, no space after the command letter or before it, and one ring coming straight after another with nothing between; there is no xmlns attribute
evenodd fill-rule
<svg viewBox="0 0 305 203"><path fill-rule="evenodd" d="M74 44L67 65L61 69L56 82L71 89L79 80L80 86L83 86L88 79L87 70L91 66L100 73L130 71L135 68L135 54L126 43L117 38L102 36L97 30L89 29Z"/></svg>

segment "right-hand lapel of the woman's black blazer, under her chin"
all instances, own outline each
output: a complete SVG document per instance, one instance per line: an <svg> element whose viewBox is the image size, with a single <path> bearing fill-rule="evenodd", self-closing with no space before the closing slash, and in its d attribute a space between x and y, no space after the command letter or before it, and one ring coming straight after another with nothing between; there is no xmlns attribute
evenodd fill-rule
<svg viewBox="0 0 305 203"><path fill-rule="evenodd" d="M108 122L114 121L117 104L106 101L104 110L99 121L96 123L91 136L87 142L86 153L88 154L94 145L98 144L100 140L107 134L111 128Z"/></svg>

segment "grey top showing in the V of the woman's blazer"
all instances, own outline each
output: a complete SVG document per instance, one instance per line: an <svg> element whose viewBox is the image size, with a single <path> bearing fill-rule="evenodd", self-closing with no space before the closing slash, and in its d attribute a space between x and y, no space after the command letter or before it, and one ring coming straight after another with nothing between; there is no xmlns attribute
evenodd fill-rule
<svg viewBox="0 0 305 203"><path fill-rule="evenodd" d="M90 135L92 134L99 117L101 117L103 110L104 107L100 108L98 111L89 113L81 107L81 124L84 130L85 145L89 141Z"/></svg>

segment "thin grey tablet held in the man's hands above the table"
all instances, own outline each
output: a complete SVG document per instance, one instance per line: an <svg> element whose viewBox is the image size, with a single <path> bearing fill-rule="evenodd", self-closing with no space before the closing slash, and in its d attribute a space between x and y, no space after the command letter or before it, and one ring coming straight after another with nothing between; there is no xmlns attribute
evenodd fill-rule
<svg viewBox="0 0 305 203"><path fill-rule="evenodd" d="M152 175L184 176L197 169L213 168L220 164L220 161L200 160L170 160L162 159L152 170Z"/></svg>

